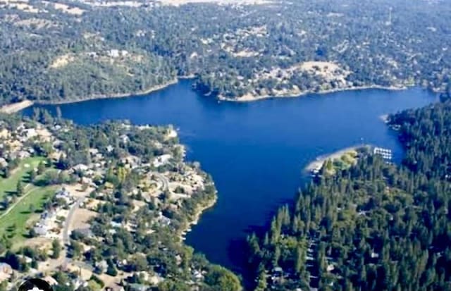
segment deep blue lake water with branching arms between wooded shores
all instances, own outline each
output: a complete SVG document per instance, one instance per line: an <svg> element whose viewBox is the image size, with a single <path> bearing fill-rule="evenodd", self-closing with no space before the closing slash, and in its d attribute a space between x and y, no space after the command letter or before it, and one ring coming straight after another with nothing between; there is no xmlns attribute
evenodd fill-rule
<svg viewBox="0 0 451 291"><path fill-rule="evenodd" d="M316 156L364 143L402 149L380 116L435 101L419 88L368 89L252 103L202 97L190 80L144 97L99 99L60 106L76 123L128 119L173 124L218 189L218 203L187 235L187 244L217 264L240 270L240 242L267 223L280 204L306 182L302 169ZM55 112L55 106L44 106ZM25 114L32 109L25 109Z"/></svg>

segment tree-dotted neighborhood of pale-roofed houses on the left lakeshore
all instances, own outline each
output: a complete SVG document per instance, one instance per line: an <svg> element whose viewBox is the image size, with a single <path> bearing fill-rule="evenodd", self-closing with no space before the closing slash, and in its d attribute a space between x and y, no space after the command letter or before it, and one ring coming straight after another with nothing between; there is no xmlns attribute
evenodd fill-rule
<svg viewBox="0 0 451 291"><path fill-rule="evenodd" d="M60 285L65 274L63 281L73 290L123 290L125 285L148 290L182 266L187 282L202 284L209 264L186 261L192 255L187 256L183 234L214 204L216 190L198 163L185 161L176 130L108 125L116 128L116 142L99 147L83 140L91 138L85 129L60 120L20 120L16 129L11 126L0 122L0 183L13 188L0 193L0 225L7 237L1 244L13 242L0 256L1 286L8 290L39 274ZM154 137L147 140L148 149L134 142L149 136ZM99 141L105 137L97 135ZM27 211L18 213L23 208ZM12 215L20 217L20 225L11 224L18 220ZM160 242L137 252L142 236ZM114 254L114 244L106 240L123 243ZM162 265L167 260L173 260L170 269Z"/></svg>

